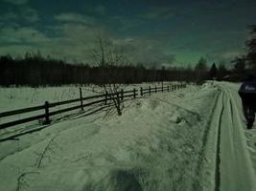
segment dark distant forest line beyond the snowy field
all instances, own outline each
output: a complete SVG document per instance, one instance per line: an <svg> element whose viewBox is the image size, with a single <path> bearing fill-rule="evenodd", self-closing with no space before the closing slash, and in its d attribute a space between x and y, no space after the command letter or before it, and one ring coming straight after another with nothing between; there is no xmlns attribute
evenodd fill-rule
<svg viewBox="0 0 256 191"><path fill-rule="evenodd" d="M239 60L241 62L241 60ZM240 73L241 73L241 69ZM231 78L230 78L231 77ZM148 69L142 64L124 66L90 66L69 64L40 53L26 53L24 58L0 56L1 86L59 86L64 84L141 83L154 81L201 82L206 79L240 80L235 70L213 64L207 68L201 58L195 68Z"/></svg>

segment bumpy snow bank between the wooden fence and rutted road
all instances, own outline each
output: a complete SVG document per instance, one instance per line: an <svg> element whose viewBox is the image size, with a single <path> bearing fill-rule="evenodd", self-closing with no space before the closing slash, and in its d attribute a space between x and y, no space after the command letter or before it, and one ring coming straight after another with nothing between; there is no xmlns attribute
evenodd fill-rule
<svg viewBox="0 0 256 191"><path fill-rule="evenodd" d="M132 100L122 117L78 117L1 142L0 190L200 190L216 93L189 86Z"/></svg>

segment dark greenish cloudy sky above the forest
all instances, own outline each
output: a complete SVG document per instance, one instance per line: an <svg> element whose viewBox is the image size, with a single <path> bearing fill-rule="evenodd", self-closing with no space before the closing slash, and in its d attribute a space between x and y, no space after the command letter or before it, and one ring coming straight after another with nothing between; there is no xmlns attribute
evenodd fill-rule
<svg viewBox="0 0 256 191"><path fill-rule="evenodd" d="M102 32L132 63L228 63L252 24L255 0L0 0L0 54L91 62Z"/></svg>

